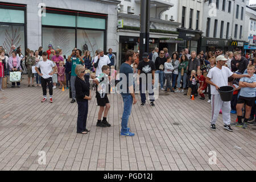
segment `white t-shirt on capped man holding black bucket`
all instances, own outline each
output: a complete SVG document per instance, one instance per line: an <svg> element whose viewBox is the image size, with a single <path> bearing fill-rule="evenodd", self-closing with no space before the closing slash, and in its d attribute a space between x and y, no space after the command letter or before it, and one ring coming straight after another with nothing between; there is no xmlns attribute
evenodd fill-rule
<svg viewBox="0 0 256 182"><path fill-rule="evenodd" d="M210 78L210 81L212 81L218 87L221 87L228 86L228 77L232 76L233 74L234 73L231 72L230 69L227 67L223 66L221 69L213 67L212 69L210 69L207 77ZM213 85L210 85L210 94L219 94L218 90L216 90L216 87Z"/></svg>

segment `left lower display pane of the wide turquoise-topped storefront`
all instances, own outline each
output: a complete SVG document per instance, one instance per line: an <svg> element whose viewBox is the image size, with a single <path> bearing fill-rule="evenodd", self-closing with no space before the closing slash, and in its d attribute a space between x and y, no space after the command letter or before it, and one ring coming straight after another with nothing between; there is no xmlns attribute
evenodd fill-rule
<svg viewBox="0 0 256 182"><path fill-rule="evenodd" d="M52 44L53 49L59 46L63 50L63 55L68 56L75 47L75 29L43 27L42 38L44 51Z"/></svg>

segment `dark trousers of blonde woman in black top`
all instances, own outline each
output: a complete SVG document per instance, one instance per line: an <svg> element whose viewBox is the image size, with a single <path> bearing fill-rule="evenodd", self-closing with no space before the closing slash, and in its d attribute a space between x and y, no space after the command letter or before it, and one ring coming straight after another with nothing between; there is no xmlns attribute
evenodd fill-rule
<svg viewBox="0 0 256 182"><path fill-rule="evenodd" d="M86 121L88 114L88 100L77 101L78 115L77 115L77 133L82 133L86 129Z"/></svg>

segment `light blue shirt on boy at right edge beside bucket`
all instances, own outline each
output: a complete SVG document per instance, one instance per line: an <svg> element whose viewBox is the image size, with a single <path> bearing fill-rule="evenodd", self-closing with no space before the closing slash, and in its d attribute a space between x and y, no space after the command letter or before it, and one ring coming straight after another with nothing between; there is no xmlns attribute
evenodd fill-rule
<svg viewBox="0 0 256 182"><path fill-rule="evenodd" d="M240 81L252 84L253 82L256 82L256 75L253 74L253 76L250 77L250 78L242 77L242 78L240 78ZM255 97L255 92L256 92L256 87L254 87L254 88L243 87L243 88L241 88L240 96L243 96L243 97Z"/></svg>

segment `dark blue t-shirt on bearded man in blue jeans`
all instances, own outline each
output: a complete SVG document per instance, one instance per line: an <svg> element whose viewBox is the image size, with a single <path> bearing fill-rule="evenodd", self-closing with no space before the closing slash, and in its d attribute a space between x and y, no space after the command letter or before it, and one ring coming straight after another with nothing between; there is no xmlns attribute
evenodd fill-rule
<svg viewBox="0 0 256 182"><path fill-rule="evenodd" d="M129 91L129 86L133 85L133 68L131 68L131 65L130 64L127 64L127 63L123 63L120 67L120 74L125 74L126 76L126 86L127 86L127 89L126 90L122 90L123 86L121 85L120 86L120 89L121 89L121 94L123 95L130 95L130 91ZM122 81L122 74L120 75L120 81ZM125 83L122 83L122 84L125 84ZM125 92L125 93L123 93Z"/></svg>

